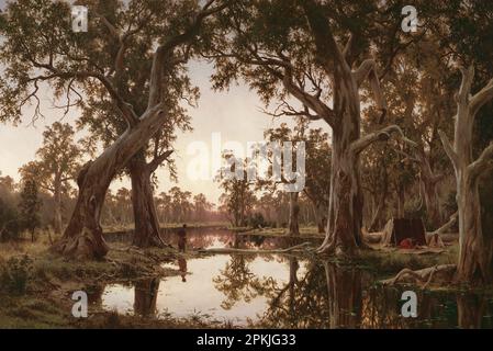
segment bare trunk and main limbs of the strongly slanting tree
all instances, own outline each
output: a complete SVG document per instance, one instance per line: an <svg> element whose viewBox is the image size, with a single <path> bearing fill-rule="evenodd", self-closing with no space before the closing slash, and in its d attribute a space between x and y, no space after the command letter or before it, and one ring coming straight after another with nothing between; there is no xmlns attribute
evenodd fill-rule
<svg viewBox="0 0 493 351"><path fill-rule="evenodd" d="M77 181L79 185L77 203L61 239L53 246L56 252L75 259L101 259L107 254L108 246L100 225L105 193L113 178L167 122L167 113L164 111L167 100L166 69L189 58L189 53L173 58L175 49L199 34L205 18L224 10L227 5L228 2L215 5L213 0L208 1L183 32L169 37L156 48L149 73L147 106L139 116L119 93L111 77L100 72L76 72L79 78L94 78L104 86L120 110L122 118L126 121L127 128L103 154L86 163L80 171ZM119 67L120 64L116 65L116 68ZM58 71L54 73L60 76Z"/></svg>

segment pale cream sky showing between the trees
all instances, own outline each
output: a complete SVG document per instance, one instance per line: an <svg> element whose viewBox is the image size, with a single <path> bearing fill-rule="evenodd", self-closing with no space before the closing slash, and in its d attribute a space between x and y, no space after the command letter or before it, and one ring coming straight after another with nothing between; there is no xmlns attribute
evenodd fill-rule
<svg viewBox="0 0 493 351"><path fill-rule="evenodd" d="M0 0L0 8L4 5L4 0ZM190 77L194 84L200 88L201 98L198 109L190 109L193 132L179 134L175 144L175 159L178 170L178 181L181 189L191 191L193 194L204 193L212 202L217 202L221 194L219 184L210 180L192 180L187 174L187 167L197 156L188 155L187 147L193 141L204 141L209 145L211 152L211 138L213 133L221 133L223 148L226 141L238 141L246 148L247 141L264 140L266 128L279 125L281 122L291 122L290 117L272 118L261 112L262 103L257 94L249 91L244 83L233 86L228 92L214 92L211 90L209 77L212 66L204 61L191 61ZM59 104L59 103L58 103ZM11 176L19 180L18 169L35 159L35 151L43 140L45 126L60 121L63 111L53 109L53 97L49 89L44 89L42 99L42 111L46 118L32 123L32 107L23 111L23 121L14 127L10 124L0 124L0 171L2 176ZM72 124L78 117L79 111L70 111L63 122ZM314 123L314 127L323 126L329 131L324 123ZM211 158L211 156L210 156ZM212 173L212 170L211 170ZM166 169L157 171L159 188L157 193L167 191L176 185L169 180ZM120 186L130 188L130 181L114 181L111 185L113 190Z"/></svg>

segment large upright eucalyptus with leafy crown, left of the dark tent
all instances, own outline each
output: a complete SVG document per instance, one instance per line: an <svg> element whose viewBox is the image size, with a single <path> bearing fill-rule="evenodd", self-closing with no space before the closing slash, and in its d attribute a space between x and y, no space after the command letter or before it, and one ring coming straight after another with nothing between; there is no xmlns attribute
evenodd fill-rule
<svg viewBox="0 0 493 351"><path fill-rule="evenodd" d="M380 55L389 57L382 64L390 69L402 46L401 9L394 2L237 1L221 16L205 54L215 59L215 88L244 79L266 104L280 102L284 115L330 126L332 192L321 252L352 254L363 246L359 155L392 133L402 136L396 125L361 136L359 94L368 82L383 122L386 107L371 55L393 47Z"/></svg>

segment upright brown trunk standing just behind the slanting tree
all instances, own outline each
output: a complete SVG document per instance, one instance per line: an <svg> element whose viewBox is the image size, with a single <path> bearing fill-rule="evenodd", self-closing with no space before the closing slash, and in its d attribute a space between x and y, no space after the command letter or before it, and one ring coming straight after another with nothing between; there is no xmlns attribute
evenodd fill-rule
<svg viewBox="0 0 493 351"><path fill-rule="evenodd" d="M134 210L134 238L132 245L139 248L163 247L159 222L154 204L152 169L141 150L128 162L132 179L132 205Z"/></svg>

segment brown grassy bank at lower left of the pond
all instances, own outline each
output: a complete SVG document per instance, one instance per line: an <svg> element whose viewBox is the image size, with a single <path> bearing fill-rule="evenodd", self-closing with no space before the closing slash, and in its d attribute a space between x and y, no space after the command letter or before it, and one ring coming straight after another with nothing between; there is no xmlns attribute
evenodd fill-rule
<svg viewBox="0 0 493 351"><path fill-rule="evenodd" d="M0 327L1 328L125 328L125 327L204 327L200 319L166 317L145 319L119 316L90 307L90 317L71 315L74 291L91 290L107 284L128 283L146 278L176 275L163 269L163 262L177 259L172 248L139 250L110 244L103 261L70 261L49 251L47 239L0 244ZM190 258L197 253L184 254ZM101 292L100 292L101 293ZM92 305L91 305L92 306ZM92 308L92 310L91 310Z"/></svg>

